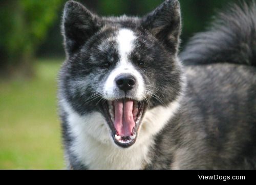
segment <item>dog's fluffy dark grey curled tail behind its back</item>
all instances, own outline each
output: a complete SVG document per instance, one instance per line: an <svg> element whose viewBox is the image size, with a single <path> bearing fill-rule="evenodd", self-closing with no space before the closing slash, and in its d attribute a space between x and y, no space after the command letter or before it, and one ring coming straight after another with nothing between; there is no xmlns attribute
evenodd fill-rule
<svg viewBox="0 0 256 185"><path fill-rule="evenodd" d="M190 39L180 58L185 65L234 63L256 66L256 3L230 5L208 31Z"/></svg>

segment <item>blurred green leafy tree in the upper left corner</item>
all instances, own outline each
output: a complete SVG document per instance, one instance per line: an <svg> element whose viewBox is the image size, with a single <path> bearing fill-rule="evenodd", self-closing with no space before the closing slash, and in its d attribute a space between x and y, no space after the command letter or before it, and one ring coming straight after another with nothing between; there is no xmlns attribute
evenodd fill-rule
<svg viewBox="0 0 256 185"><path fill-rule="evenodd" d="M0 1L0 75L31 75L33 56L62 0Z"/></svg>

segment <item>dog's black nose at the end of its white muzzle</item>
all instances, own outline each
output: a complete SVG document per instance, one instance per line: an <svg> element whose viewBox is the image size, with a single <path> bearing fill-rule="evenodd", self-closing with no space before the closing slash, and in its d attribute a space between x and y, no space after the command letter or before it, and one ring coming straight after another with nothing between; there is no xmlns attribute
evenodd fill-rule
<svg viewBox="0 0 256 185"><path fill-rule="evenodd" d="M117 87L123 91L130 91L136 84L135 77L131 74L121 74L115 79Z"/></svg>

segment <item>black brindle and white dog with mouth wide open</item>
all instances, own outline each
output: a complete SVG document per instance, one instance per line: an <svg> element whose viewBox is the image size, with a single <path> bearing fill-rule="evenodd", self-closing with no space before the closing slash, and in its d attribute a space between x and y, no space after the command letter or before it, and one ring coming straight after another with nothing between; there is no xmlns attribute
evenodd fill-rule
<svg viewBox="0 0 256 185"><path fill-rule="evenodd" d="M178 0L143 17L69 1L58 80L68 169L256 169L256 5L179 52Z"/></svg>

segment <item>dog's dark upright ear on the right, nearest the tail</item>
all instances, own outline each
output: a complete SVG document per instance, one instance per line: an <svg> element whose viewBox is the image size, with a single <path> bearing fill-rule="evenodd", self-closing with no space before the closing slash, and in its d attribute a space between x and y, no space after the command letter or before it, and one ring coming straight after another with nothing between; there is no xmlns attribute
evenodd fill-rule
<svg viewBox="0 0 256 185"><path fill-rule="evenodd" d="M166 0L156 10L142 18L141 27L177 52L181 32L179 1Z"/></svg>

